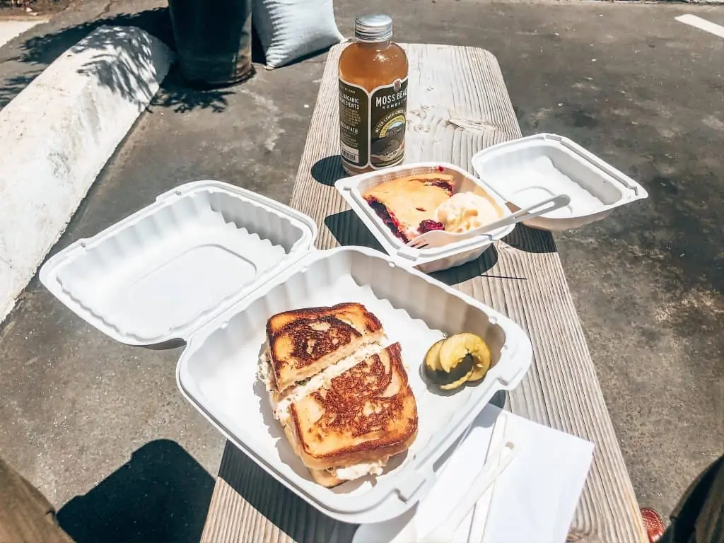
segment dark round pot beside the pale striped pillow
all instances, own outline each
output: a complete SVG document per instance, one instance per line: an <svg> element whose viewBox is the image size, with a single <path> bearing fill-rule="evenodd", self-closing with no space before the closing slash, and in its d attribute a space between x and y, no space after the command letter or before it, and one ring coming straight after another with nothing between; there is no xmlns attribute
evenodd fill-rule
<svg viewBox="0 0 724 543"><path fill-rule="evenodd" d="M185 80L203 86L241 83L251 64L253 0L169 0Z"/></svg>

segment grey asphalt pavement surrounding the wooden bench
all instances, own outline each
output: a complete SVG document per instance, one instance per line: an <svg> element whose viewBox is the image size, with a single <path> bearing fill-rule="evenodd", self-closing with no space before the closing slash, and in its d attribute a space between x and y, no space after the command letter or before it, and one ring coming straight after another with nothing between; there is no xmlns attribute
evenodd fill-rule
<svg viewBox="0 0 724 543"><path fill-rule="evenodd" d="M159 5L78 4L12 41L0 50L0 105L12 95L2 83L32 77L49 51L80 39L95 17L132 20L168 40L165 12L153 11ZM722 452L724 436L724 40L674 19L693 13L717 22L720 10L430 0L410 12L406 5L370 0L365 10L391 12L398 41L489 49L524 134L567 135L649 190L647 201L556 240L639 501L668 513ZM349 34L359 7L351 0L335 7ZM188 180L226 180L288 201L323 66L316 56L261 69L245 85L210 93L184 88L173 72L57 247ZM190 455L178 455L179 473L200 464L215 474L223 440L177 392L178 350L118 345L34 280L0 328L0 353L2 454L56 505L111 473L117 480L134 451L161 438ZM141 488L159 486L160 475L140 471ZM205 476L197 479L206 489ZM192 509L179 508L191 515L189 539L193 515L204 513Z"/></svg>

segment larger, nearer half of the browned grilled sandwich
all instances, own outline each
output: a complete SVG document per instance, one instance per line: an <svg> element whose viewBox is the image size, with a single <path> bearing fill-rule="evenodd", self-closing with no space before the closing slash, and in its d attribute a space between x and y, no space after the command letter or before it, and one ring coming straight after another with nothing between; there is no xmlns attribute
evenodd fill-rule
<svg viewBox="0 0 724 543"><path fill-rule="evenodd" d="M412 445L417 426L417 404L394 343L292 403L285 433L314 479L333 486L341 482L334 468L387 462Z"/></svg>

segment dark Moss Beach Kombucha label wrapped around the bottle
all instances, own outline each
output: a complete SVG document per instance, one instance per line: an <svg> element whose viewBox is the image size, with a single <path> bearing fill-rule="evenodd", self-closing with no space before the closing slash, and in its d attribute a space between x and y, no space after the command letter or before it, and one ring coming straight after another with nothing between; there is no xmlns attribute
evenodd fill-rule
<svg viewBox="0 0 724 543"><path fill-rule="evenodd" d="M371 93L340 79L340 154L351 166L393 166L405 154L407 77Z"/></svg>

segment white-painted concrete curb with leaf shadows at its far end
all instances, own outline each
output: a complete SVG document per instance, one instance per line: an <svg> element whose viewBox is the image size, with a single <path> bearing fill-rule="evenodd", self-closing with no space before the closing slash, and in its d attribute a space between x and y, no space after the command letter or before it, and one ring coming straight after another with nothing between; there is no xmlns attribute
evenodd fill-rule
<svg viewBox="0 0 724 543"><path fill-rule="evenodd" d="M0 321L173 62L133 27L101 27L0 111Z"/></svg>

